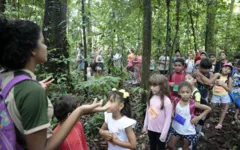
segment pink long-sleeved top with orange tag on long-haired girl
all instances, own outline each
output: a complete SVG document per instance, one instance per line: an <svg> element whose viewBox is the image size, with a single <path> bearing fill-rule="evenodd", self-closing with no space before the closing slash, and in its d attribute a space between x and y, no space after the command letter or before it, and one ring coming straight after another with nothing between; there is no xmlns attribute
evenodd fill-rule
<svg viewBox="0 0 240 150"><path fill-rule="evenodd" d="M154 109L157 111L157 116L155 118L152 118L152 116L149 114L150 107L154 107ZM164 97L164 108L161 110L160 96L154 95L150 100L150 106L147 105L144 129L161 133L160 139L166 141L172 120L172 110L172 103L167 96Z"/></svg>

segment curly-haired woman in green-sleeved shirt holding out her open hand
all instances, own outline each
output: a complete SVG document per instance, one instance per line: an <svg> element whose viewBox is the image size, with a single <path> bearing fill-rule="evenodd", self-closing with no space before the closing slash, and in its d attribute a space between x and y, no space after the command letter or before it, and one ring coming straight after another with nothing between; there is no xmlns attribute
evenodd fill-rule
<svg viewBox="0 0 240 150"><path fill-rule="evenodd" d="M77 107L66 123L52 134L50 118L53 114L51 102L44 88L37 83L34 70L36 65L47 61L47 46L40 27L31 21L8 21L0 18L0 73L1 88L16 76L28 76L16 84L8 93L5 105L13 120L17 144L24 149L58 149L81 115L93 111L103 111L101 103ZM2 104L1 104L2 105ZM0 136L2 142L2 136Z"/></svg>

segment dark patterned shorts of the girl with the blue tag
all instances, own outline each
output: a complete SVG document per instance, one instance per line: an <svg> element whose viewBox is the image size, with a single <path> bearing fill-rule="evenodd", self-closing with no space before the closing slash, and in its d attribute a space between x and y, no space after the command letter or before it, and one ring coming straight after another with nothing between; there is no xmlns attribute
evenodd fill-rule
<svg viewBox="0 0 240 150"><path fill-rule="evenodd" d="M177 133L176 130L173 129L173 127L170 128L169 133L168 133L168 142L170 141L171 136L179 136L182 137L186 140L188 140L189 142L191 142L192 145L195 145L196 142L198 141L200 134L193 134L193 135L181 135L179 133Z"/></svg>

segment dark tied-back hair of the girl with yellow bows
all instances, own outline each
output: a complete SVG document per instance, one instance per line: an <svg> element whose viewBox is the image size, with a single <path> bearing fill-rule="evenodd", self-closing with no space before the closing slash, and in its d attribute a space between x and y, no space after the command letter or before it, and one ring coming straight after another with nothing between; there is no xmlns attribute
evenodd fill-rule
<svg viewBox="0 0 240 150"><path fill-rule="evenodd" d="M124 98L124 95L122 92L119 91L111 91L108 94L108 99L112 97L114 101L119 101L120 103L123 103L124 107L123 109L120 111L120 113L122 115L125 115L129 118L131 118L132 116L132 112L131 112L131 104L130 104L130 98L129 96Z"/></svg>

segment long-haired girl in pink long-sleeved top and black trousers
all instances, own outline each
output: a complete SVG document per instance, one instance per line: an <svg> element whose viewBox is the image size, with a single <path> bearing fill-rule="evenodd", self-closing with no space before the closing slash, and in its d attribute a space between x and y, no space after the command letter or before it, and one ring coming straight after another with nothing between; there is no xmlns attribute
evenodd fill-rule
<svg viewBox="0 0 240 150"><path fill-rule="evenodd" d="M171 124L172 104L167 78L152 75L143 130L148 133L151 150L164 150Z"/></svg>

